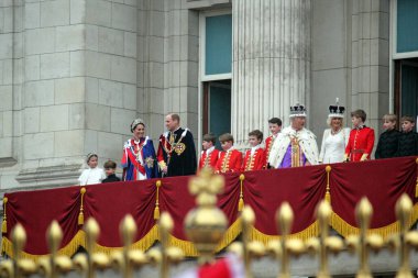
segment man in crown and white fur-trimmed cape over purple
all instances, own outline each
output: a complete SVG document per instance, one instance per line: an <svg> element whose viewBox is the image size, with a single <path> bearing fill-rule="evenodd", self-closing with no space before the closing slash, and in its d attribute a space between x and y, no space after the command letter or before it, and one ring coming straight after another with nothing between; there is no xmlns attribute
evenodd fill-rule
<svg viewBox="0 0 418 278"><path fill-rule="evenodd" d="M318 164L318 145L315 134L305 129L306 109L290 107L290 126L285 127L274 141L268 164L274 168L299 167Z"/></svg>

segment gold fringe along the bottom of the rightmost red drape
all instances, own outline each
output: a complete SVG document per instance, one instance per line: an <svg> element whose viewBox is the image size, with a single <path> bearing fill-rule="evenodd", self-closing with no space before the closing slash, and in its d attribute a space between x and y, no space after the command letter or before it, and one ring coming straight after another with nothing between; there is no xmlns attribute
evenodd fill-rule
<svg viewBox="0 0 418 278"><path fill-rule="evenodd" d="M409 219L409 224L408 226L411 227L413 224L418 220L418 203L414 205L414 211L410 215ZM332 212L331 214L331 222L330 225L342 236L346 237L348 235L351 234L360 234L360 229L350 225L346 223L342 218L340 218L337 213ZM387 226L382 226L382 227L376 227L376 229L370 229L367 230L367 233L370 234L378 234L383 238L387 238L388 236L399 233L400 227L399 227L399 222L396 221L392 224L388 224Z"/></svg>

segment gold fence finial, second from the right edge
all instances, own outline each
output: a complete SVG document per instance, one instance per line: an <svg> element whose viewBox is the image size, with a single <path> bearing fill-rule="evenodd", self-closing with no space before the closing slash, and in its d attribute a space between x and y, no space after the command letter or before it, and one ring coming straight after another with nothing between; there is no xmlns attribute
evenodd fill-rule
<svg viewBox="0 0 418 278"><path fill-rule="evenodd" d="M377 234L367 234L373 214L373 207L363 197L355 207L355 216L360 226L360 235L351 235L346 238L348 247L359 254L360 268L356 278L372 278L369 265L369 253L371 249L380 249L383 246L383 238Z"/></svg>

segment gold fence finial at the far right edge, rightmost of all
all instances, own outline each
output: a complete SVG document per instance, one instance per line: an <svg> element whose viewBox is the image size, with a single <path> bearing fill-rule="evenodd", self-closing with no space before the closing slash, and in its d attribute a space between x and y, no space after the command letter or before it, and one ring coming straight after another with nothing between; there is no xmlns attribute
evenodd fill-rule
<svg viewBox="0 0 418 278"><path fill-rule="evenodd" d="M406 193L400 196L395 205L396 218L399 221L400 231L398 235L388 240L388 244L392 249L399 253L400 262L396 278L415 277L410 269L409 255L410 247L418 247L418 232L408 232L411 222L413 207L413 201Z"/></svg>

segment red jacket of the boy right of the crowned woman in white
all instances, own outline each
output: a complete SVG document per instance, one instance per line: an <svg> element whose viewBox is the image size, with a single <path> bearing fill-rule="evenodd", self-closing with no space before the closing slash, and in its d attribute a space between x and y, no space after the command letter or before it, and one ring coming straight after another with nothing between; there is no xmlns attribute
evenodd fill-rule
<svg viewBox="0 0 418 278"><path fill-rule="evenodd" d="M350 162L360 162L363 154L370 159L374 145L374 130L365 125L353 129L350 132L349 143L345 147L345 156Z"/></svg>

